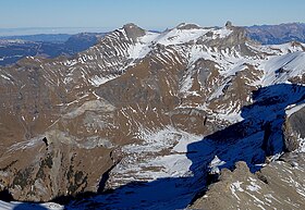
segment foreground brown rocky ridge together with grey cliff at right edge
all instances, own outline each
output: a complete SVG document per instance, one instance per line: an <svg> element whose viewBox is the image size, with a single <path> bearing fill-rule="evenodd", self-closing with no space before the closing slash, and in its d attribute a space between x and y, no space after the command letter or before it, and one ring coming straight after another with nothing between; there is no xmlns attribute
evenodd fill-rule
<svg viewBox="0 0 305 210"><path fill-rule="evenodd" d="M221 170L219 177L209 185L205 195L187 209L302 208L305 203L303 102L304 98L301 98L300 104L290 106L285 110L282 126L285 153L276 161L276 157L267 158L271 162L267 161L256 173L252 173L245 162L237 162L232 171ZM269 135L272 134L271 125L268 124L265 133L268 129Z"/></svg>

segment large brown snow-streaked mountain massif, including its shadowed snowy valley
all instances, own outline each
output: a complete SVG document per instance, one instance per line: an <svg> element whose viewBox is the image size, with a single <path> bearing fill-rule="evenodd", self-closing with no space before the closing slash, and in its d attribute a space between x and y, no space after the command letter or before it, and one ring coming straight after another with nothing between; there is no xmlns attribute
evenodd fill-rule
<svg viewBox="0 0 305 210"><path fill-rule="evenodd" d="M283 152L304 150L305 45L261 46L246 33L126 24L72 58L0 67L1 189L71 209L183 209L232 181L223 205L259 202L251 189L264 184L248 196L245 180L269 183Z"/></svg>

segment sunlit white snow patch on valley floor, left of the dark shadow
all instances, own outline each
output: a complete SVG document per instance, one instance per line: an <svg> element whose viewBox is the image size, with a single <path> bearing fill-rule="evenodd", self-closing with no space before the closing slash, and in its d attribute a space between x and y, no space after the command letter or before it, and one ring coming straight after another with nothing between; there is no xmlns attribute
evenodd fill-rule
<svg viewBox="0 0 305 210"><path fill-rule="evenodd" d="M143 139L143 143L123 148L129 156L112 170L112 178L129 183L131 177L133 181L154 181L191 176L192 161L186 157L187 145L202 140L203 136L166 126L156 132L141 129L137 138ZM172 149L164 155L160 153L164 148Z"/></svg>

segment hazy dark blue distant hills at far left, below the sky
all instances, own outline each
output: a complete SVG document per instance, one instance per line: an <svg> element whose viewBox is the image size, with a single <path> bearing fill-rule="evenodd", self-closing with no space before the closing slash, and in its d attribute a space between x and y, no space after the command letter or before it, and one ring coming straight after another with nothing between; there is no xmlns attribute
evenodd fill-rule
<svg viewBox="0 0 305 210"><path fill-rule="evenodd" d="M94 46L103 33L76 35L27 35L0 37L0 65L9 65L25 57L56 58L74 55Z"/></svg>

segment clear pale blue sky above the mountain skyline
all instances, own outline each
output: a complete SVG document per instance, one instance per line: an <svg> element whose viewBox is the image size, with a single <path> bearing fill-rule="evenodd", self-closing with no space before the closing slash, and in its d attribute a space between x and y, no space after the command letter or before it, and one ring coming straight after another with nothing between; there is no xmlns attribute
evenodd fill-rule
<svg viewBox="0 0 305 210"><path fill-rule="evenodd" d="M0 0L0 28L279 24L305 22L304 11L305 0Z"/></svg>

